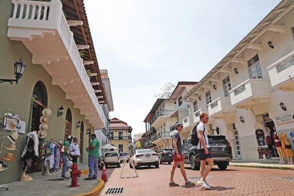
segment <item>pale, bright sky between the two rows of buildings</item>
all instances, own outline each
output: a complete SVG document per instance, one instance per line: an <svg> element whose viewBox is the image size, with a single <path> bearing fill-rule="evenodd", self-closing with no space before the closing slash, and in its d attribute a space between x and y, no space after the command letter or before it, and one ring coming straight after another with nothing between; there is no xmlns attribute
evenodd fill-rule
<svg viewBox="0 0 294 196"><path fill-rule="evenodd" d="M115 111L133 134L168 82L199 81L280 0L84 0Z"/></svg>

